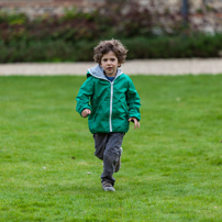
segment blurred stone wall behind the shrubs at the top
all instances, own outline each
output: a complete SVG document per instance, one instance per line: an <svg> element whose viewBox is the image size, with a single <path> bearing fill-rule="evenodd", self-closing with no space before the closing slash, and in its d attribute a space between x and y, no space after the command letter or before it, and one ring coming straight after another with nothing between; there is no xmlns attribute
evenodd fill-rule
<svg viewBox="0 0 222 222"><path fill-rule="evenodd" d="M104 0L0 0L0 10L22 12L34 18L36 15L62 15L64 9L74 7L90 11L101 5ZM182 0L138 0L142 8L152 13L180 14ZM204 3L203 3L204 2ZM193 29L213 33L222 32L222 0L189 0L189 21ZM167 20L165 21L167 25Z"/></svg>

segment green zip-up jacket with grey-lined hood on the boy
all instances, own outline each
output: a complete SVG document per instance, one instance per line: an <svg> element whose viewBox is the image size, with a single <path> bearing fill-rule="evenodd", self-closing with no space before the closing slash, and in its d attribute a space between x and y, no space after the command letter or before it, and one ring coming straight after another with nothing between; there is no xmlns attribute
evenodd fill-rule
<svg viewBox="0 0 222 222"><path fill-rule="evenodd" d="M141 120L140 97L129 76L118 69L115 79L109 81L103 69L97 65L88 69L87 80L76 98L76 111L81 114L90 109L88 116L91 133L129 131L129 118Z"/></svg>

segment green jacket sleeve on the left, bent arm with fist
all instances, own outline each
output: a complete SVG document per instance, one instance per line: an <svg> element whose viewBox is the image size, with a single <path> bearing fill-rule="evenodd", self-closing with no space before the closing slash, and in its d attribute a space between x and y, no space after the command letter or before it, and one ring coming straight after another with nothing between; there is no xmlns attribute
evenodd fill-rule
<svg viewBox="0 0 222 222"><path fill-rule="evenodd" d="M93 95L93 80L92 78L88 78L79 89L79 92L76 97L77 104L76 111L81 114L82 110L89 109L91 110L90 98Z"/></svg>

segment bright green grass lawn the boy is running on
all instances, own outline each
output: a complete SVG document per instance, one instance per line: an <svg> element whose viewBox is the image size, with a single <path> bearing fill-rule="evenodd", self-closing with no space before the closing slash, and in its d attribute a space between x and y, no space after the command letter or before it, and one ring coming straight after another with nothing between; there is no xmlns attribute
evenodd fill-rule
<svg viewBox="0 0 222 222"><path fill-rule="evenodd" d="M100 185L85 77L0 77L0 221L222 221L222 75L133 76L141 129Z"/></svg>

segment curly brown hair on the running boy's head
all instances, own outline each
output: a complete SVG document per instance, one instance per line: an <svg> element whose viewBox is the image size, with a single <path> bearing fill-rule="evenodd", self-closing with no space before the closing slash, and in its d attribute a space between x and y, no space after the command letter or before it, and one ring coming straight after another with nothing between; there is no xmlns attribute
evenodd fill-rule
<svg viewBox="0 0 222 222"><path fill-rule="evenodd" d="M100 41L100 43L95 47L95 62L101 64L102 56L109 52L113 52L118 57L118 62L123 64L125 62L127 49L118 40Z"/></svg>

